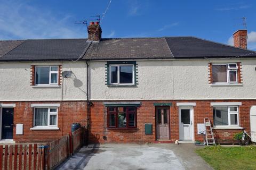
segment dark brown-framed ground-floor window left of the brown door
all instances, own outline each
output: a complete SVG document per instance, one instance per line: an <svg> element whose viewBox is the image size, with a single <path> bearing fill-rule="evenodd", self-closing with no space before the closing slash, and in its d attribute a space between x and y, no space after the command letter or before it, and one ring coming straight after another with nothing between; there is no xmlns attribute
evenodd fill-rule
<svg viewBox="0 0 256 170"><path fill-rule="evenodd" d="M136 107L108 107L108 128L136 128Z"/></svg>

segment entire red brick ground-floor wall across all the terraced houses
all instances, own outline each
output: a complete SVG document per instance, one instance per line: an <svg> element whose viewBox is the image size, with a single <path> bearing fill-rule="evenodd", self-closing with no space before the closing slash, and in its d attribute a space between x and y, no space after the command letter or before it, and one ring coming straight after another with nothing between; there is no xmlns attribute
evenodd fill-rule
<svg viewBox="0 0 256 170"><path fill-rule="evenodd" d="M256 105L256 100L146 100L137 108L137 129L113 130L107 128L107 108L103 101L92 101L90 108L89 140L91 143L118 142L118 143L145 143L156 141L155 106L154 103L172 103L170 106L170 141L179 140L179 107L177 102L195 102L194 106L194 135L195 140L202 141L203 135L197 135L197 123L203 123L205 117L213 121L213 107L211 102L242 102L239 106L239 124L246 131L250 131L250 108ZM5 102L1 102L5 103ZM11 102L13 103L13 102ZM58 109L58 127L60 130L30 130L33 127L33 108L31 103L60 103ZM49 141L70 132L71 123L87 125L86 101L44 101L44 102L15 102L14 124L24 124L24 134L16 135L15 127L13 139L16 142ZM63 121L62 121L63 120ZM153 124L153 134L145 135L145 123ZM241 130L214 130L216 138L233 139L234 134Z"/></svg>

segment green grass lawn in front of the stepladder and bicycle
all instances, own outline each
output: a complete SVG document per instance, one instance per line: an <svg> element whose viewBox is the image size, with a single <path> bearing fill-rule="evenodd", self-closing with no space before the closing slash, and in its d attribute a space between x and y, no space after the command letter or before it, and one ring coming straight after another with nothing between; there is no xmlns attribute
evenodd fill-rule
<svg viewBox="0 0 256 170"><path fill-rule="evenodd" d="M196 150L214 169L256 169L256 147L211 146Z"/></svg>

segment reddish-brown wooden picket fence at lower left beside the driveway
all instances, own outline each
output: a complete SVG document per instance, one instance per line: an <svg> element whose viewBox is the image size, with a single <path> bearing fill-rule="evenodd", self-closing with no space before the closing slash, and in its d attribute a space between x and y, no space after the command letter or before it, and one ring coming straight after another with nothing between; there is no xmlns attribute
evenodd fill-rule
<svg viewBox="0 0 256 170"><path fill-rule="evenodd" d="M0 145L0 170L54 169L81 146L81 128L49 143Z"/></svg>

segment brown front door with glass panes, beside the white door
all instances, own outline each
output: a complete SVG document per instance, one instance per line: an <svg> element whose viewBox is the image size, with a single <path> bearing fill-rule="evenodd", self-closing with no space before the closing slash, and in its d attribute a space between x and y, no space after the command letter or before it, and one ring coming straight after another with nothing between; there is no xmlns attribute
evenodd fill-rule
<svg viewBox="0 0 256 170"><path fill-rule="evenodd" d="M156 137L157 140L170 139L169 108L156 108Z"/></svg>

